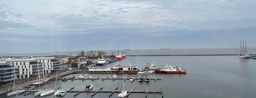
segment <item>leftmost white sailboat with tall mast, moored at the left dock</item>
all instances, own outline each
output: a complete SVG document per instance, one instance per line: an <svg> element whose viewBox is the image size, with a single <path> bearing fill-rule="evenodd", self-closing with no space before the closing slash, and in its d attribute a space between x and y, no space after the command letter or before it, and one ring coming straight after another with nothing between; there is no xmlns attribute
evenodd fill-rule
<svg viewBox="0 0 256 98"><path fill-rule="evenodd" d="M14 75L14 71L15 71L15 68L13 69L13 72L12 72L12 76ZM15 76L14 76L15 77ZM12 78L11 78L12 80ZM23 90L23 88L17 88L15 89L15 82L14 82L15 78L13 79L13 91L8 93L7 96L11 96L11 95L17 95L17 94L20 94L20 93L23 93L25 92L25 90ZM12 81L11 81L12 82ZM10 86L11 86L11 82L10 82ZM9 86L9 89L10 89L10 86ZM8 89L8 91L9 91Z"/></svg>

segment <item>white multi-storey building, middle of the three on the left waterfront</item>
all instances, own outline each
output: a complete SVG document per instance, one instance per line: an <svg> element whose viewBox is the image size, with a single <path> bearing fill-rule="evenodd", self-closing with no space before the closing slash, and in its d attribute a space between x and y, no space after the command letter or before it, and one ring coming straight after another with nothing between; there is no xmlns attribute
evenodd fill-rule
<svg viewBox="0 0 256 98"><path fill-rule="evenodd" d="M38 77L38 68L40 74L42 73L42 63L38 63L37 60L33 58L7 58L6 62L11 63L15 69L18 69L17 78L20 79Z"/></svg>

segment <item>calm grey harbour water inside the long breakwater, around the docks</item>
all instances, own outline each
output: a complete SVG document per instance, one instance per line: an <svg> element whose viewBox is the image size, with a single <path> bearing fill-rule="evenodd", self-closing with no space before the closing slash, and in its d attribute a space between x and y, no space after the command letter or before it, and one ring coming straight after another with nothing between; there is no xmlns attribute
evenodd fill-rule
<svg viewBox="0 0 256 98"><path fill-rule="evenodd" d="M250 83L252 81L255 81L255 77L252 76L255 73L251 70L255 68L255 60L242 59L238 57L237 54L217 56L127 56L127 59L120 60L118 61L118 63L121 64L120 67L129 68L130 62L131 66L137 67L136 69L139 69L141 68L141 66L147 63L149 63L149 66L151 63L156 65L152 67L165 67L166 62L168 63L168 61L170 60L174 61L174 63L172 63L172 66L178 65L178 68L185 68L186 70L188 70L187 73L151 73L142 75L137 73L125 72L127 96L131 98L145 97L145 91L147 87L148 90L152 92L160 92L163 90L163 97L174 96L176 98L188 98L198 97L198 94L200 94L202 97L210 96L227 98L241 98L241 94L243 97L248 98L252 98L255 96L255 94L253 93L253 91L255 91L256 89L255 85ZM116 63L117 62L114 62L113 65L115 65ZM110 66L111 65L109 64L105 67ZM215 71L209 70L216 67L220 69ZM237 70L241 67L243 67L243 70L246 71L246 73ZM237 72L239 72L240 74L237 74ZM84 75L85 79L77 79L79 75ZM90 75L94 78L89 79L88 76ZM58 73L58 84L61 86L60 89L67 90L66 94L62 96L63 98L71 98L74 97L74 95L78 98L102 98L103 96L116 98L123 88L122 85L120 85L123 84L123 73L115 73L115 75L118 76L118 78L116 79L113 78L113 75L114 74L111 74L111 72L89 72L89 69L88 71L86 71L86 69L73 69L71 71L61 72L61 74ZM69 78L70 76L73 76L75 78ZM132 78L133 76L135 78ZM144 78L146 78L146 76L150 76L150 81L146 82L144 79L144 81L138 82L137 76L143 76ZM65 77L67 77L68 80L62 82L61 80ZM49 83L47 83L47 87L54 87L54 79L48 82ZM244 82L247 82L247 84L243 85ZM85 86L89 84L93 85L93 90L90 91L95 92L86 92L84 90ZM25 86L25 84L22 85L24 85L23 87L25 88L29 86ZM22 85L20 84L17 86ZM135 88L134 91L137 91L137 93L132 93L133 87ZM232 90L230 91L230 89ZM242 89L248 91L242 92ZM108 92L104 93L104 91ZM225 94L223 94L222 92L225 92ZM31 91L26 90L25 93L19 94L18 97L25 98L23 96L27 93L31 93ZM47 95L42 98L52 97L52 95ZM7 98L5 94L0 95L0 97ZM34 94L28 94L26 95L26 98L34 98ZM162 93L147 93L147 98L162 98Z"/></svg>

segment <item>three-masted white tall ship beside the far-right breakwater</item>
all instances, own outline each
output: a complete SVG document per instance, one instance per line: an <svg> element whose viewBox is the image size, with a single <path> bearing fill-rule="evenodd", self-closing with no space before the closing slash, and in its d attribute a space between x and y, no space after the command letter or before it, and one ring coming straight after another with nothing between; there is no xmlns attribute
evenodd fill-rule
<svg viewBox="0 0 256 98"><path fill-rule="evenodd" d="M238 52L238 56L246 59L250 57L246 49L246 41L244 43L244 40L243 41L240 40L240 52Z"/></svg>

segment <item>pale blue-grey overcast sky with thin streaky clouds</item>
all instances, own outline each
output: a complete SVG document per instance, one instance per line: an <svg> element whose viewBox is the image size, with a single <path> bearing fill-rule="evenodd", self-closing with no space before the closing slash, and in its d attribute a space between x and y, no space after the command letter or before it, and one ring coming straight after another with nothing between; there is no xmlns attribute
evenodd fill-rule
<svg viewBox="0 0 256 98"><path fill-rule="evenodd" d="M256 47L255 0L0 2L0 53Z"/></svg>

